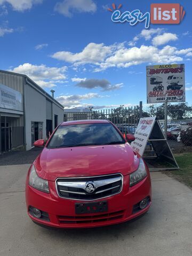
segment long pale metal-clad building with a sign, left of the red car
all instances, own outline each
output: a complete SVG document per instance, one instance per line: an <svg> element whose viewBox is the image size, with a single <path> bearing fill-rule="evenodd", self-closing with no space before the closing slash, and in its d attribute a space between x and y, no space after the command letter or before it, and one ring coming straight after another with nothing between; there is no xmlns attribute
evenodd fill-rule
<svg viewBox="0 0 192 256"><path fill-rule="evenodd" d="M0 154L26 150L63 122L63 106L29 77L0 70Z"/></svg>

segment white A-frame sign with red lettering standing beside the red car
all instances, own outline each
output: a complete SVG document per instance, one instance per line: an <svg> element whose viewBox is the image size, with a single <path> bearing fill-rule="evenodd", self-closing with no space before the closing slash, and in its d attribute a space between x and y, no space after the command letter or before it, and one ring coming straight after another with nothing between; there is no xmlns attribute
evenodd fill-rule
<svg viewBox="0 0 192 256"><path fill-rule="evenodd" d="M156 117L140 118L131 147L142 156L150 171L179 169Z"/></svg>

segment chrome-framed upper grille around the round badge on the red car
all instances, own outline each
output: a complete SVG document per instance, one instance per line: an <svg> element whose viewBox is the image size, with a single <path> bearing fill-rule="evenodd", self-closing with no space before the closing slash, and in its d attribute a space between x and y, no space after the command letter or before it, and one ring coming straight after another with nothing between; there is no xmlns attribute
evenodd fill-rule
<svg viewBox="0 0 192 256"><path fill-rule="evenodd" d="M87 193L85 190L87 182L94 183L93 193ZM117 173L83 178L58 178L55 183L60 197L95 200L120 193L123 186L123 175Z"/></svg>

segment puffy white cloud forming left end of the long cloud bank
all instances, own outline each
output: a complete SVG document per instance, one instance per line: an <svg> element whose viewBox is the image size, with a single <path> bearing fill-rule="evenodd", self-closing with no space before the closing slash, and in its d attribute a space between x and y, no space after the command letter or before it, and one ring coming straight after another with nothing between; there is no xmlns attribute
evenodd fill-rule
<svg viewBox="0 0 192 256"><path fill-rule="evenodd" d="M57 60L63 60L69 63L75 63L76 66L86 63L97 64L102 62L107 55L111 52L110 46L105 46L102 44L89 43L83 49L82 52L72 53L72 52L55 52L52 58Z"/></svg>

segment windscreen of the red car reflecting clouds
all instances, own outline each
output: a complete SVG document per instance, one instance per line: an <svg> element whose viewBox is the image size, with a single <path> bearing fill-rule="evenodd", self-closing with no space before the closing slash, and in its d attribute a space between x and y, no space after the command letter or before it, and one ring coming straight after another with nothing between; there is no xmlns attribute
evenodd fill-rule
<svg viewBox="0 0 192 256"><path fill-rule="evenodd" d="M110 123L60 125L47 148L112 145L125 140Z"/></svg>

